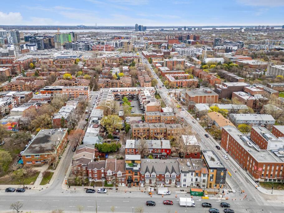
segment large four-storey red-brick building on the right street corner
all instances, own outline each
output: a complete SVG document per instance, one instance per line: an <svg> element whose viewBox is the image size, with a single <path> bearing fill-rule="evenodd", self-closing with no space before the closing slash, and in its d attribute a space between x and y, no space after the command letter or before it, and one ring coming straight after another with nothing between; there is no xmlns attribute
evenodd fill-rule
<svg viewBox="0 0 284 213"><path fill-rule="evenodd" d="M222 129L221 146L255 181L284 182L282 151L258 148L235 127Z"/></svg>

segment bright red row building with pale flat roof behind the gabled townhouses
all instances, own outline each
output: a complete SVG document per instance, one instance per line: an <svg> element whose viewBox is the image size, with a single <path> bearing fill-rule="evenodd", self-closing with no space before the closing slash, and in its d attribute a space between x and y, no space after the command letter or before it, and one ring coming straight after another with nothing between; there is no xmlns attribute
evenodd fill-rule
<svg viewBox="0 0 284 213"><path fill-rule="evenodd" d="M171 156L171 143L169 140L145 140L147 154L144 157L151 155L153 158L168 158ZM141 145L141 140L126 140L125 155L139 155L144 145Z"/></svg>

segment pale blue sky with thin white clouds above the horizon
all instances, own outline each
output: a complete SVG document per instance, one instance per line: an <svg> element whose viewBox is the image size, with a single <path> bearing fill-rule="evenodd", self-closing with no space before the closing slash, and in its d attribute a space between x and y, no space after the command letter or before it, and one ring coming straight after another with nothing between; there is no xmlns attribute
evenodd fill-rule
<svg viewBox="0 0 284 213"><path fill-rule="evenodd" d="M0 25L283 25L284 0L13 0Z"/></svg>

